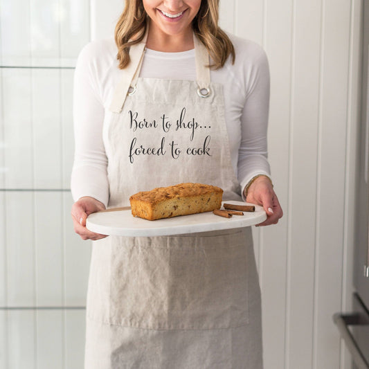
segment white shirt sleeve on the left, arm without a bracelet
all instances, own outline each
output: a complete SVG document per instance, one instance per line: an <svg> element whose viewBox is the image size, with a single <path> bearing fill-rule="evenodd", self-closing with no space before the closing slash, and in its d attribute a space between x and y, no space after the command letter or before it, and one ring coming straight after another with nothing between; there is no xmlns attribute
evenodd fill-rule
<svg viewBox="0 0 369 369"><path fill-rule="evenodd" d="M71 174L73 199L89 196L109 201L107 156L102 141L104 107L98 88L94 46L85 46L77 60L73 89L75 155Z"/></svg>

